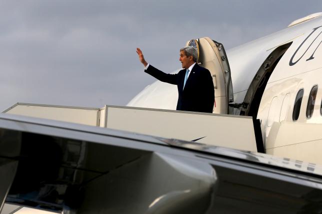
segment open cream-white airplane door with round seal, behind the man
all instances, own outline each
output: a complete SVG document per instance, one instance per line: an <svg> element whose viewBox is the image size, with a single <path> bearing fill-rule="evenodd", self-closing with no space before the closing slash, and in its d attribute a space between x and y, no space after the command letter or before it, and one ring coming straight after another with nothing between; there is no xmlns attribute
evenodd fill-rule
<svg viewBox="0 0 322 214"><path fill-rule="evenodd" d="M212 76L215 103L213 113L232 114L228 103L233 102L230 68L223 45L208 37L193 39L186 45L197 48L197 63L208 69Z"/></svg>

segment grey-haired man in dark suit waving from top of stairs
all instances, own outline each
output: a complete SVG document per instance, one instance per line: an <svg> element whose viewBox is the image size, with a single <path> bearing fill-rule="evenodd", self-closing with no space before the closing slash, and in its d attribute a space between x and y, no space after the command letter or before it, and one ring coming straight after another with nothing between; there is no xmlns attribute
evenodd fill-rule
<svg viewBox="0 0 322 214"><path fill-rule="evenodd" d="M196 48L187 46L180 49L179 61L184 69L177 74L163 73L148 64L139 48L136 48L136 53L146 73L162 82L177 85L179 96L176 110L212 113L214 103L212 78L207 69L196 63Z"/></svg>

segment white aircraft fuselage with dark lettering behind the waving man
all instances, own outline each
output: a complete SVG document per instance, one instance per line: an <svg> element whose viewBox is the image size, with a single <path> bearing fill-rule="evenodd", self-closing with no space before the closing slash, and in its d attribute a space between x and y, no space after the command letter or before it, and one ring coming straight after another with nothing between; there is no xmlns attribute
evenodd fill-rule
<svg viewBox="0 0 322 214"><path fill-rule="evenodd" d="M318 152L322 149L320 15L299 19L283 30L229 49L226 55L234 103L239 104L234 114L260 120L265 152L322 164ZM299 102L296 95L301 89ZM175 109L176 90L175 85L156 81L128 105ZM222 111L214 109L214 113Z"/></svg>

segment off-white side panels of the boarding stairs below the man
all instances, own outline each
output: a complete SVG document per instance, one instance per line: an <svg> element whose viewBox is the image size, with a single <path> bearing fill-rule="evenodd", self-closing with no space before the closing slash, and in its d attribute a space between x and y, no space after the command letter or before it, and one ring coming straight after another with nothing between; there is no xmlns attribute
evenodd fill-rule
<svg viewBox="0 0 322 214"><path fill-rule="evenodd" d="M111 105L83 108L30 103L16 103L3 113L264 152L259 121L248 116Z"/></svg>

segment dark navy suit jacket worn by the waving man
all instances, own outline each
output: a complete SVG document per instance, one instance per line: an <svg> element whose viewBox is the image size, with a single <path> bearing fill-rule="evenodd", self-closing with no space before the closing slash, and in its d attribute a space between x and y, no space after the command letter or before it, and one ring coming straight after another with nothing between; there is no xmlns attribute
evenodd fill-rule
<svg viewBox="0 0 322 214"><path fill-rule="evenodd" d="M185 71L182 69L177 74L166 74L151 65L145 70L162 82L177 85L179 96L176 110L212 113L214 89L210 72L195 64L183 89Z"/></svg>

